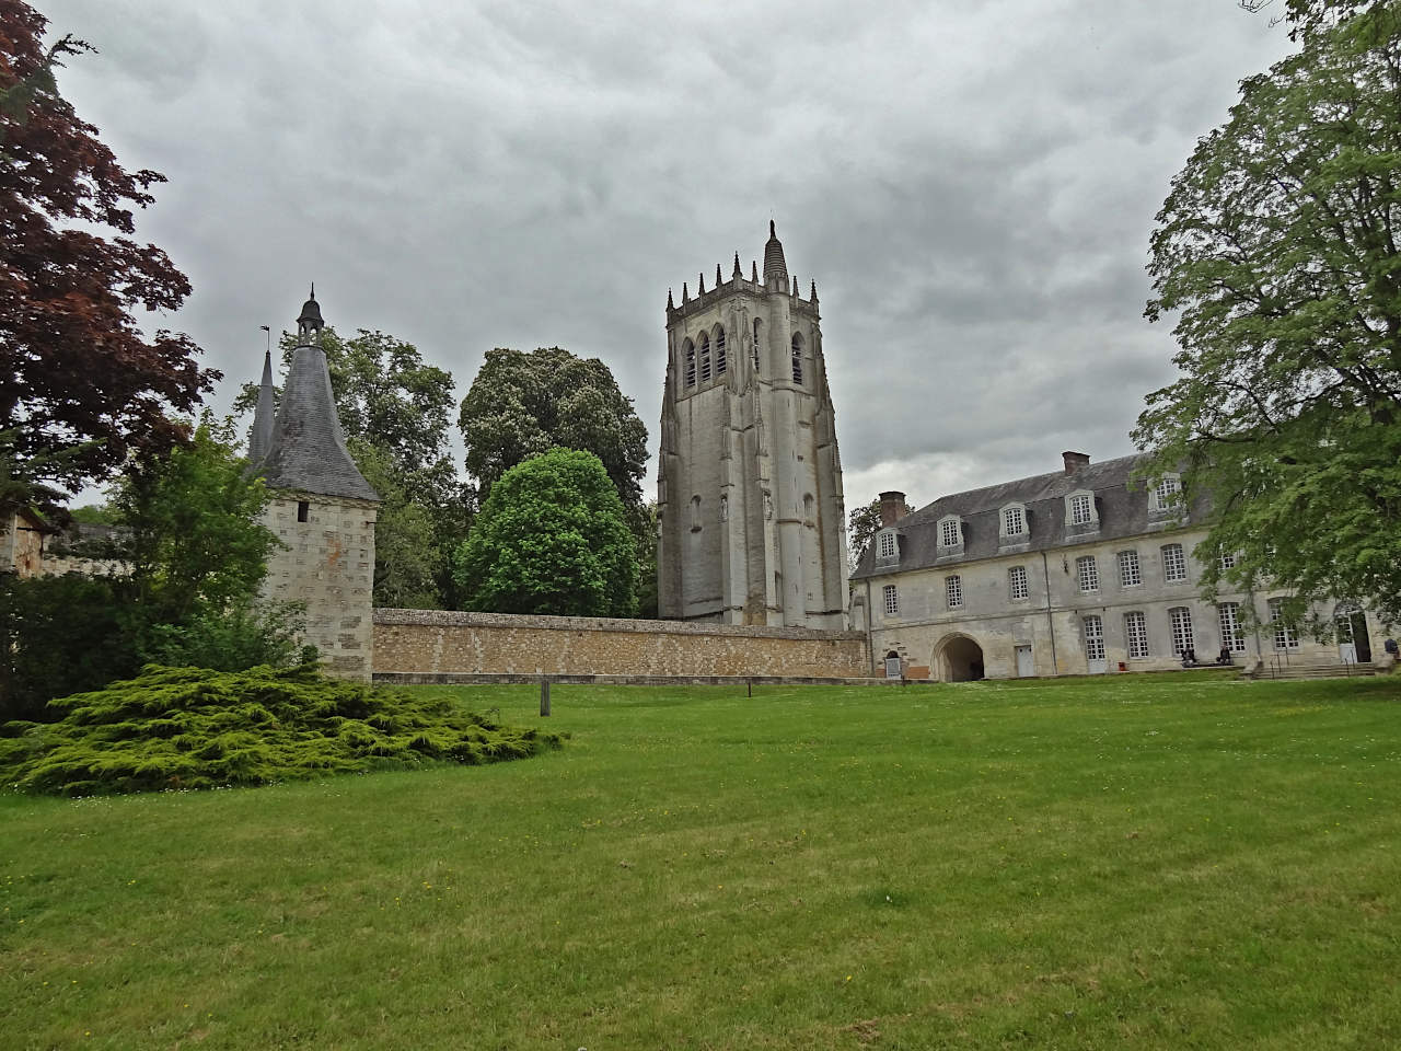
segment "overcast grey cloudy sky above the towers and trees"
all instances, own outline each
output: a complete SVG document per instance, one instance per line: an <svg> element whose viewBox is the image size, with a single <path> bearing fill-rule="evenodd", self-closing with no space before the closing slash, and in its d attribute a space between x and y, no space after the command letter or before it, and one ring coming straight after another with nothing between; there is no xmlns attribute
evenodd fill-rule
<svg viewBox="0 0 1401 1051"><path fill-rule="evenodd" d="M60 88L195 293L160 324L261 366L317 282L465 394L493 346L601 357L653 433L667 289L778 221L817 280L856 506L1132 451L1171 335L1153 214L1237 81L1236 0L38 0ZM647 490L654 486L649 478Z"/></svg>

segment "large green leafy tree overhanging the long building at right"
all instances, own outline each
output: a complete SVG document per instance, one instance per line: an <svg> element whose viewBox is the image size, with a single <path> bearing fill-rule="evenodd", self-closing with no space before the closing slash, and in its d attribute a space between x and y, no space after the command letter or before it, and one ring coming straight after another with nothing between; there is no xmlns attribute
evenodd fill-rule
<svg viewBox="0 0 1401 1051"><path fill-rule="evenodd" d="M1213 496L1226 579L1292 589L1293 618L1328 596L1401 615L1401 38L1374 29L1307 29L1243 81L1152 238L1180 378L1135 440Z"/></svg>

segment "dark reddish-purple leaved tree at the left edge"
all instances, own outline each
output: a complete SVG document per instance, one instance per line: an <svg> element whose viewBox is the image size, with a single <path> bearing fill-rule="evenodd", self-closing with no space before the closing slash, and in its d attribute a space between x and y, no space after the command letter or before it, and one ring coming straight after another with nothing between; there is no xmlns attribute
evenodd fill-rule
<svg viewBox="0 0 1401 1051"><path fill-rule="evenodd" d="M154 171L129 172L55 83L71 36L0 0L0 497L52 506L52 486L109 475L132 450L160 453L219 373L185 335L147 336L136 311L174 311L189 282L132 240Z"/></svg>

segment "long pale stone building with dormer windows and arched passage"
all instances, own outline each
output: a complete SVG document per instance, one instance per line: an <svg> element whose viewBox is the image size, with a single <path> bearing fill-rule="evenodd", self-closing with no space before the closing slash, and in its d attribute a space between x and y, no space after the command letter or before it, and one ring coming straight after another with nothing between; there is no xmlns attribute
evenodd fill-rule
<svg viewBox="0 0 1401 1051"><path fill-rule="evenodd" d="M873 668L897 656L905 674L957 681L1177 668L1188 647L1208 663L1224 646L1241 667L1381 656L1381 626L1355 603L1318 611L1345 624L1328 643L1272 628L1276 591L1203 603L1201 559L1216 556L1203 549L1205 509L1133 485L1133 457L1091 468L1076 455L1063 472L884 523L855 573L852 605ZM1089 504L1077 523L1080 495ZM1009 521L1023 528L1009 534ZM1248 610L1258 626L1247 625Z"/></svg>

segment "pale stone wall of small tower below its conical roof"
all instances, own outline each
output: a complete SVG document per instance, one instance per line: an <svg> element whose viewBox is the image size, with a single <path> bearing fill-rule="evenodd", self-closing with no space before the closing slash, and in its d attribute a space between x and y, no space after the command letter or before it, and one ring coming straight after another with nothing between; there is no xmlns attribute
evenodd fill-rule
<svg viewBox="0 0 1401 1051"><path fill-rule="evenodd" d="M307 607L304 642L328 673L374 671L374 521L378 504L277 490L262 521L284 545L268 559L263 596Z"/></svg>

